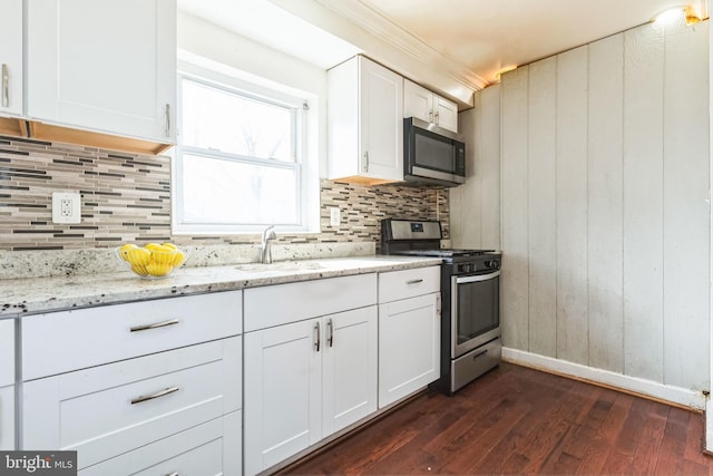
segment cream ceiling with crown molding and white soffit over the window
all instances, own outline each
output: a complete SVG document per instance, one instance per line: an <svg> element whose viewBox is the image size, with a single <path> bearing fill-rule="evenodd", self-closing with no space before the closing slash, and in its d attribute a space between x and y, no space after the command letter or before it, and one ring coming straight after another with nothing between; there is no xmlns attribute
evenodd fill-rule
<svg viewBox="0 0 713 476"><path fill-rule="evenodd" d="M178 0L322 68L356 52L461 104L504 68L648 22L686 0ZM707 0L688 0L707 17Z"/></svg>

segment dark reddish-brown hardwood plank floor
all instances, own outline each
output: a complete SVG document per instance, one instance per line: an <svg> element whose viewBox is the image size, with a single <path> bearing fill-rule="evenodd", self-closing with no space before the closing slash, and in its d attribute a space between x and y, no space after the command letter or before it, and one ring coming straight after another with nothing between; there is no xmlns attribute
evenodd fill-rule
<svg viewBox="0 0 713 476"><path fill-rule="evenodd" d="M423 394L282 474L713 475L703 415L502 363Z"/></svg>

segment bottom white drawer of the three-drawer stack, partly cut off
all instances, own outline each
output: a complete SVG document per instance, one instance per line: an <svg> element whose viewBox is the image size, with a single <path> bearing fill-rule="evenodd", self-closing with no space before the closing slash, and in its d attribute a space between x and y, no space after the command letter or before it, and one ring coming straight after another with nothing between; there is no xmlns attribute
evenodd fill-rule
<svg viewBox="0 0 713 476"><path fill-rule="evenodd" d="M90 466L79 475L240 475L241 427L241 412L235 411Z"/></svg>

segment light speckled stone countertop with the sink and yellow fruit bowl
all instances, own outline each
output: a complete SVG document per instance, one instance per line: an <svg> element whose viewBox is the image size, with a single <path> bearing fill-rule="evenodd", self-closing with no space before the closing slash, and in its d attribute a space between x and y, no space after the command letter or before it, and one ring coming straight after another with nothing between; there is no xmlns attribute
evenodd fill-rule
<svg viewBox="0 0 713 476"><path fill-rule="evenodd" d="M0 319L92 305L116 304L174 295L201 294L439 265L440 259L359 256L273 264L180 268L170 276L145 280L129 271L76 276L0 280Z"/></svg>

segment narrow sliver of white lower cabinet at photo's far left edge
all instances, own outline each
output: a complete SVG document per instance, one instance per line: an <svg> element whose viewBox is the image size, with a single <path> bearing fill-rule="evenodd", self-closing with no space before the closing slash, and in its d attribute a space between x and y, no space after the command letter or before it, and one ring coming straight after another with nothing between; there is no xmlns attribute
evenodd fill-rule
<svg viewBox="0 0 713 476"><path fill-rule="evenodd" d="M0 320L0 450L14 449L14 320Z"/></svg>

